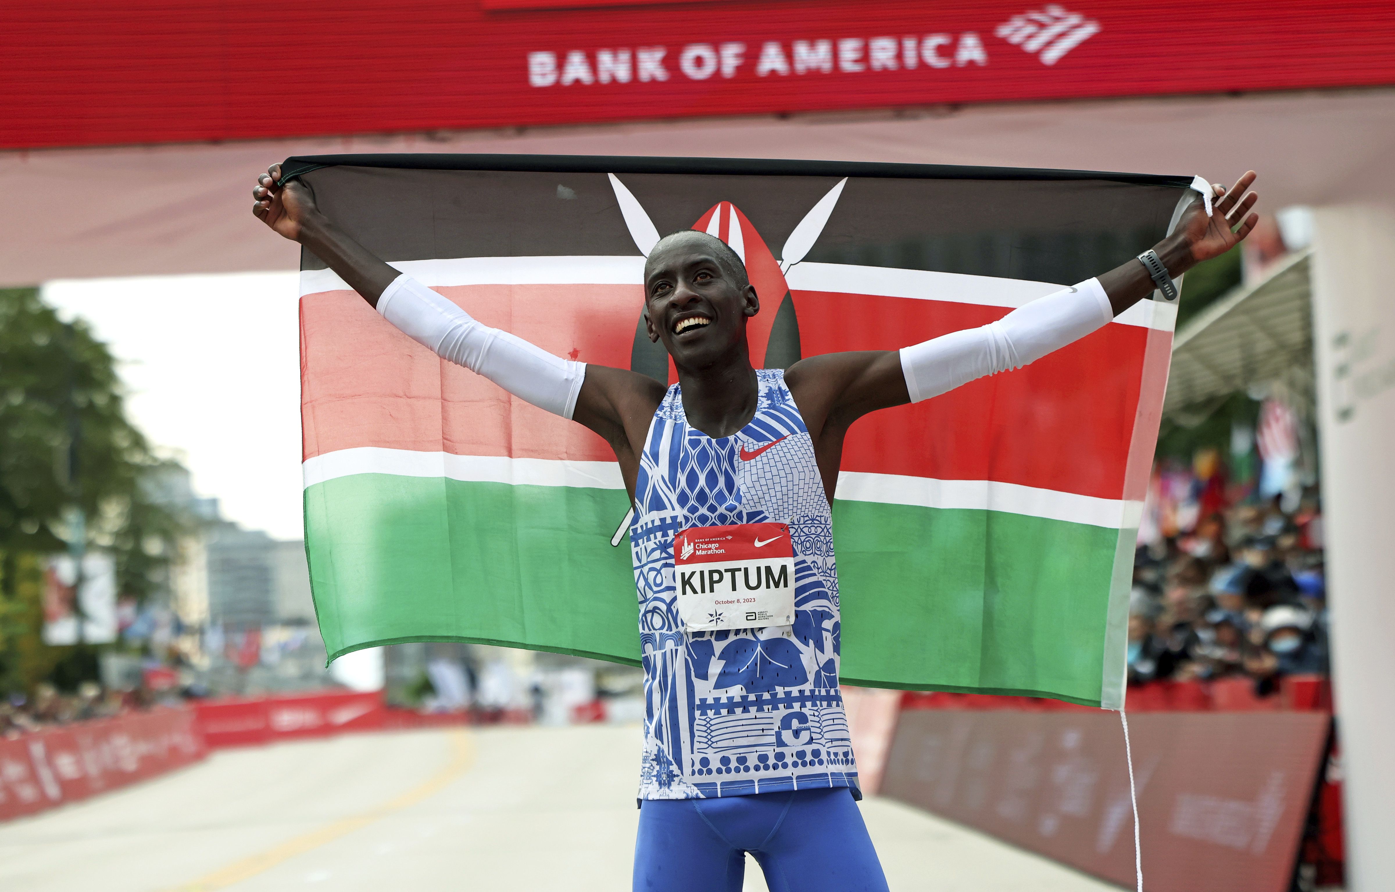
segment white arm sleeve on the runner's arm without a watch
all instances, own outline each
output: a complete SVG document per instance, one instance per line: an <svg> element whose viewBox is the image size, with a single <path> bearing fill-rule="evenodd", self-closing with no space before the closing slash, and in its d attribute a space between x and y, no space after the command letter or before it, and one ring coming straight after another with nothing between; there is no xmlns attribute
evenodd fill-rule
<svg viewBox="0 0 1395 892"><path fill-rule="evenodd" d="M403 273L378 298L378 312L442 360L484 375L520 400L571 418L586 378L571 362L522 337L480 325L446 298Z"/></svg>

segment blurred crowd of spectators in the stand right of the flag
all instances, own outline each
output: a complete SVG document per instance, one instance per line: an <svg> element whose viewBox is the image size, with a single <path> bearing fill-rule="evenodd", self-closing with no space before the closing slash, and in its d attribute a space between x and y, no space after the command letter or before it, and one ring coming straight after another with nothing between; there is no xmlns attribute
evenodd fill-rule
<svg viewBox="0 0 1395 892"><path fill-rule="evenodd" d="M1129 616L1129 682L1328 672L1322 517L1315 493L1216 507L1141 545Z"/></svg>

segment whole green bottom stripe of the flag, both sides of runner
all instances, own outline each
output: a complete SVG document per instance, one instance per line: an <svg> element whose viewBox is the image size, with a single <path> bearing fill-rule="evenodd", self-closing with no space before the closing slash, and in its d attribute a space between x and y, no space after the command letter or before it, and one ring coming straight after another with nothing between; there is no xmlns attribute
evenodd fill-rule
<svg viewBox="0 0 1395 892"><path fill-rule="evenodd" d="M307 555L331 658L456 640L638 663L629 549L608 541L626 507L624 491L583 486L391 474L314 484ZM844 680L1101 704L1116 637L1101 617L1131 532L838 500L834 535ZM925 629L939 630L933 645L914 631Z"/></svg>

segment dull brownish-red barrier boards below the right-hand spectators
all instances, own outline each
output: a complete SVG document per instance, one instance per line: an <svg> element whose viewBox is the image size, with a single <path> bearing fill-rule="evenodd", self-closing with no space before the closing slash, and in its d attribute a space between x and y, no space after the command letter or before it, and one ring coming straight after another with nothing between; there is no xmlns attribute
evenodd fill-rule
<svg viewBox="0 0 1395 892"><path fill-rule="evenodd" d="M1331 718L1133 715L1149 892L1285 892ZM1133 811L1112 712L914 709L882 794L1133 888Z"/></svg>

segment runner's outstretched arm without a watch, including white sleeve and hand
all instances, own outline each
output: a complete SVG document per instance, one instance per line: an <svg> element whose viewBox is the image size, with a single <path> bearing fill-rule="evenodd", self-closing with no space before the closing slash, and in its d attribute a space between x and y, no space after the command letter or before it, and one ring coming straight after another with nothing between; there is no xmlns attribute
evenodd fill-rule
<svg viewBox="0 0 1395 892"><path fill-rule="evenodd" d="M261 174L252 213L278 234L310 248L382 316L420 344L484 375L509 393L578 421L615 449L633 486L638 450L663 385L628 369L587 367L555 357L520 337L473 319L462 308L398 272L347 233L315 203L304 183L280 183L280 164ZM638 440L635 436L638 435Z"/></svg>

